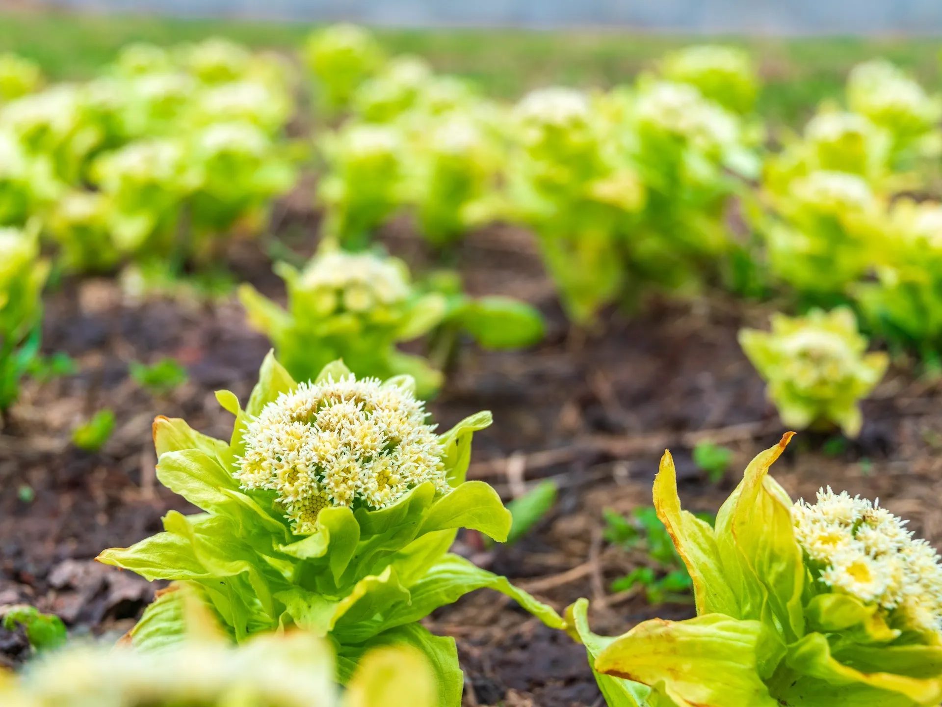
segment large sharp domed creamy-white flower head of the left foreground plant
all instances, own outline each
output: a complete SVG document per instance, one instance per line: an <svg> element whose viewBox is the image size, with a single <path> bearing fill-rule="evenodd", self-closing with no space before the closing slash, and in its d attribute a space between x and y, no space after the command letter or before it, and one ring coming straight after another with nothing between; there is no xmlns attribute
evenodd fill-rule
<svg viewBox="0 0 942 707"><path fill-rule="evenodd" d="M412 391L378 379L301 383L248 424L235 478L278 492L295 533L329 505L385 508L430 481L447 493L442 447Z"/></svg>

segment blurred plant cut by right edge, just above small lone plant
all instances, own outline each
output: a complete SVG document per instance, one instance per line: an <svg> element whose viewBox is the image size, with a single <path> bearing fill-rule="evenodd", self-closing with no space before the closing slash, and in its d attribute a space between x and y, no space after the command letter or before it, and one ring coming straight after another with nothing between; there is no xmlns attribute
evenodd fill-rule
<svg viewBox="0 0 942 707"><path fill-rule="evenodd" d="M936 361L942 346L942 206L894 203L877 281L853 296L873 329L896 345Z"/></svg>

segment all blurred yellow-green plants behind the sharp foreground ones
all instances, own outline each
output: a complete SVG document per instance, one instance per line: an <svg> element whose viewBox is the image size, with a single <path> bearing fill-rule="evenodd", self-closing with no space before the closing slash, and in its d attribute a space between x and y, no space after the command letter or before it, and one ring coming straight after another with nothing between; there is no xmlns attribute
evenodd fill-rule
<svg viewBox="0 0 942 707"><path fill-rule="evenodd" d="M300 379L342 357L361 375L410 373L427 397L461 336L492 348L542 336L531 307L468 298L447 271L411 285L372 245L402 213L446 251L488 222L526 226L577 326L597 326L605 304L719 286L797 313L850 306L865 334L937 366L942 206L905 194L931 186L942 106L884 61L856 67L846 107L821 106L802 135L778 131L781 149L770 151L755 68L729 47L675 52L631 86L536 90L516 106L420 58L388 58L354 26L317 32L300 59L322 123L314 168L325 246L303 272L277 264L287 311L240 290L252 324ZM210 268L228 238L264 231L308 152L286 135L297 70L228 41L133 45L87 84L42 89L38 69L13 57L0 74L0 223L24 242L57 244L57 271L133 263L124 282L138 292L166 289L187 264ZM25 276L11 267L8 279ZM10 287L21 290L11 302L36 290ZM16 321L40 311L9 308L4 405L31 351ZM788 424L855 435L856 400L883 370L853 363L855 324L844 340L822 334L816 317L797 322L806 336L771 341L797 346L804 374L746 345L748 332L746 353ZM398 352L396 342L423 336L426 360Z"/></svg>

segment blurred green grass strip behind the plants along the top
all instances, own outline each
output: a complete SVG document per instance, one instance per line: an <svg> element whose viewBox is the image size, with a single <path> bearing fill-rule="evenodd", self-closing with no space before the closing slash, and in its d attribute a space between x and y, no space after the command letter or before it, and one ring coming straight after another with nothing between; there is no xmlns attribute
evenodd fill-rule
<svg viewBox="0 0 942 707"><path fill-rule="evenodd" d="M170 46L210 35L252 48L294 51L310 25L229 19L180 20L16 12L0 14L0 53L38 61L53 81L88 78L128 42ZM436 71L474 79L487 95L516 98L549 83L609 88L650 68L666 52L702 37L625 31L378 28L390 54L417 54ZM771 124L800 124L820 101L843 90L855 63L883 57L933 85L938 41L932 38L715 37L747 49L764 86L757 112Z"/></svg>

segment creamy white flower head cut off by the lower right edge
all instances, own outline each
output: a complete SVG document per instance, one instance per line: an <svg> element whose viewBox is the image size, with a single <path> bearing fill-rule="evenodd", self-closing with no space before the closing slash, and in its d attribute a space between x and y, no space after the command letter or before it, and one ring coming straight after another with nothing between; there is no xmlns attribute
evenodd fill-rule
<svg viewBox="0 0 942 707"><path fill-rule="evenodd" d="M830 486L816 503L792 508L795 537L808 558L823 567L824 584L886 611L903 624L942 633L942 567L925 540L913 539L907 521L877 503Z"/></svg>

